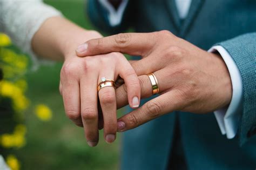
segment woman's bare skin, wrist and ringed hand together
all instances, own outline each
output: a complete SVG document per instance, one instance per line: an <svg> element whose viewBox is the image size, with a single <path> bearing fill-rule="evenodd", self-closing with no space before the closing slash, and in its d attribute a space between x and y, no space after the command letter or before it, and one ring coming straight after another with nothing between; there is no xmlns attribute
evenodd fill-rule
<svg viewBox="0 0 256 170"><path fill-rule="evenodd" d="M104 87L98 93L100 78L114 81L118 77L123 78L130 106L137 108L140 100L139 79L122 53L77 57L75 50L79 44L99 37L102 36L96 31L84 30L62 17L52 17L42 24L31 44L38 56L64 60L59 90L63 96L65 112L76 125L84 128L89 146L98 144L98 131L103 126L106 142L116 139L116 94L113 87ZM83 50L83 46L78 47L79 50Z"/></svg>

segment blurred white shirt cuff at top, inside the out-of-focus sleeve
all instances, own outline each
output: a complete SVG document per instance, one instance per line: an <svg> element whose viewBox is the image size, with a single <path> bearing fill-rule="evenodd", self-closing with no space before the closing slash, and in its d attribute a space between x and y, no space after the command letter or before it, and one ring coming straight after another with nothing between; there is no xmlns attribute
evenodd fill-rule
<svg viewBox="0 0 256 170"><path fill-rule="evenodd" d="M114 9L112 4L109 3L109 1L107 0L98 0L98 1L107 10L107 12L109 12L107 15L107 17L109 18L109 24L111 26L119 25L122 21L124 10L126 8L128 0L122 0L117 10Z"/></svg>

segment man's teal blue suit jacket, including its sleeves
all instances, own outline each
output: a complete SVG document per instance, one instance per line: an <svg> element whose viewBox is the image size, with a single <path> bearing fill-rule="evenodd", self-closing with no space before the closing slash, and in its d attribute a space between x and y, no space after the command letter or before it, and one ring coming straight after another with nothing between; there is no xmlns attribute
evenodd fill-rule
<svg viewBox="0 0 256 170"><path fill-rule="evenodd" d="M242 77L243 101L237 136L221 135L213 113L173 112L124 133L122 169L166 169L176 126L188 169L256 168L256 1L192 0L184 21L174 1L129 1L122 22L111 27L106 10L90 0L91 21L111 34L131 27L136 32L169 30L208 50L223 46Z"/></svg>

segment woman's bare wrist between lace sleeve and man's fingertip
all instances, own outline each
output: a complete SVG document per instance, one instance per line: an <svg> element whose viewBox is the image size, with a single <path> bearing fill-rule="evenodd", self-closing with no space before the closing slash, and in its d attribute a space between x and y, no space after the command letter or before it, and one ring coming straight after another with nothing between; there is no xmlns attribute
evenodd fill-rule
<svg viewBox="0 0 256 170"><path fill-rule="evenodd" d="M32 38L32 49L45 59L64 60L75 55L76 47L92 38L102 37L96 31L87 31L63 17L51 17L41 25Z"/></svg>

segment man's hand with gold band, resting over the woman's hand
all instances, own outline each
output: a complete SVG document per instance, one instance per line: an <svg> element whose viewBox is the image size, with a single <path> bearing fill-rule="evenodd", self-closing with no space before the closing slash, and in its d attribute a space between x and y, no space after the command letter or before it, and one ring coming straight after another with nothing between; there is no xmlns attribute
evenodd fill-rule
<svg viewBox="0 0 256 170"><path fill-rule="evenodd" d="M118 119L118 131L126 131L172 111L208 113L226 107L232 97L231 79L224 60L169 31L122 33L91 39L77 55L112 51L142 56L132 66L139 76L142 98L152 96L146 74L154 73L160 96ZM116 90L117 106L127 104L125 84Z"/></svg>

